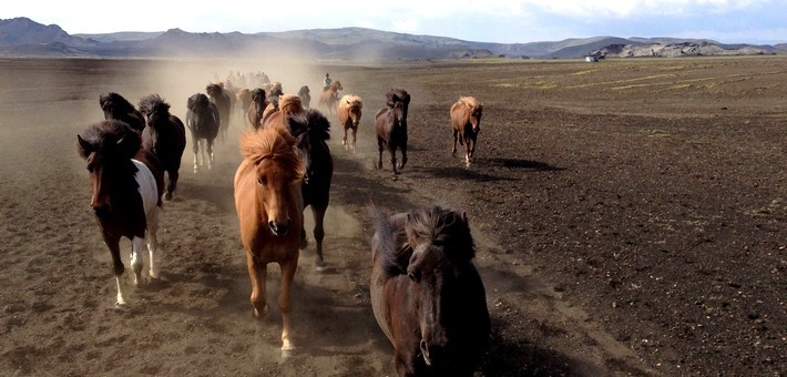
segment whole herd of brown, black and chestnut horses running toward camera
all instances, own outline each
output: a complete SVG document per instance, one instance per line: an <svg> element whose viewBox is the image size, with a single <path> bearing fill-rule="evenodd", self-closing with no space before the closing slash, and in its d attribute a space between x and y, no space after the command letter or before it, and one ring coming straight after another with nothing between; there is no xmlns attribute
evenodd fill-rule
<svg viewBox="0 0 787 377"><path fill-rule="evenodd" d="M338 98L335 81L319 96L320 106L335 111L344 128L343 144L355 151L362 100ZM160 95L140 100L139 110L117 93L101 94L104 120L78 135L78 153L85 160L91 183L91 207L110 249L117 287L116 305L125 305L120 240L132 242L134 284L143 282L143 253L149 252L147 276L157 277L156 231L163 201L172 200L178 167L191 131L194 172L214 162L213 143L226 137L234 100L252 128L239 141L243 155L235 177L234 198L252 282L256 317L269 312L267 265L282 271L278 309L282 314L282 355L290 355L292 285L299 249L307 246L304 211L315 221L315 265L323 255L324 218L330 200L334 162L327 141L330 122L309 108L308 88L298 95L278 86L238 91L232 96L221 84L187 99L186 122L170 113ZM305 100L305 101L304 101ZM410 94L386 93L375 115L379 159L390 154L394 179L407 163L407 115ZM245 106L245 111L243 109ZM461 98L450 110L453 150L459 140L470 164L476 149L482 105ZM351 140L348 139L351 132ZM472 143L472 146L471 146ZM397 150L401 160L397 163ZM165 183L166 174L166 185ZM490 334L490 318L481 277L472 259L474 244L467 215L439 206L386 216L370 206L375 234L371 249L370 299L378 325L395 347L396 369L402 376L472 376L481 347Z"/></svg>

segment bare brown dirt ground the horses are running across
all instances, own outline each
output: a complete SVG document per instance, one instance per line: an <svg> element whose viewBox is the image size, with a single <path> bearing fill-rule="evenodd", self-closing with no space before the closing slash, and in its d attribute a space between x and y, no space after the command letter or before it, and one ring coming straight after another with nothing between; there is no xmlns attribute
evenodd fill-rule
<svg viewBox="0 0 787 377"><path fill-rule="evenodd" d="M102 92L159 93L183 118L231 70L264 71L288 93L308 84L313 103L330 72L365 101L356 153L333 129L329 268L315 271L314 243L301 252L286 360L278 310L256 320L248 303L238 118L213 171L192 172L188 141L162 214L161 278L122 309L74 146L102 119ZM368 298L369 202L467 212L493 327L479 375L787 375L786 83L786 58L2 59L0 375L392 375ZM412 95L398 181L387 156L374 169L371 115L389 88ZM484 104L470 167L450 153L460 95Z"/></svg>

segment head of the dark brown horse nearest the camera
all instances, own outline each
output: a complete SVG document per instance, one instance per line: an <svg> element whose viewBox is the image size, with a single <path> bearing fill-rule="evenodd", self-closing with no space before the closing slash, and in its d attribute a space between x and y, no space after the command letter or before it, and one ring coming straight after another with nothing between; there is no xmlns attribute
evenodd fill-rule
<svg viewBox="0 0 787 377"><path fill-rule="evenodd" d="M450 365L450 342L460 328L452 326L462 289L462 272L474 256L472 236L464 214L440 207L413 211L405 223L412 251L407 276L418 292L416 304L421 356L428 366ZM456 360L453 360L456 361Z"/></svg>

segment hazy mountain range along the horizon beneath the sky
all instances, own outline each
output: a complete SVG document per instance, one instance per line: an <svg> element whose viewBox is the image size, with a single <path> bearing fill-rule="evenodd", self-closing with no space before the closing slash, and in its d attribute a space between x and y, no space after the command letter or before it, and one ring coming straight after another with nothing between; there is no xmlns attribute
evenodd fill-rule
<svg viewBox="0 0 787 377"><path fill-rule="evenodd" d="M723 44L677 38L594 37L555 42L488 43L364 28L253 34L162 32L69 34L28 18L0 20L0 57L62 58L265 58L323 60L462 59L487 57L573 59L594 57L696 57L786 54L787 44Z"/></svg>

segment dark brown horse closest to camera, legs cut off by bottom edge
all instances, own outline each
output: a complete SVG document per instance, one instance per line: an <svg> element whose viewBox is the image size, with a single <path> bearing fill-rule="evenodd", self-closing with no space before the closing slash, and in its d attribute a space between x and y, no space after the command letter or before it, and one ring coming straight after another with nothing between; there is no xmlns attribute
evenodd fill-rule
<svg viewBox="0 0 787 377"><path fill-rule="evenodd" d="M369 284L399 376L472 376L490 334L483 282L464 214L376 214Z"/></svg>

